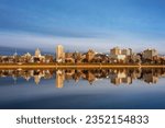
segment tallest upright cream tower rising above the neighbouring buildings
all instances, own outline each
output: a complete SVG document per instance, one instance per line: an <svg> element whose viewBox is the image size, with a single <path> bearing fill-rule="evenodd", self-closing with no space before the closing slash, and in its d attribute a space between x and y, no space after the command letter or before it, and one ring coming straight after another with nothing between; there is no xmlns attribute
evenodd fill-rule
<svg viewBox="0 0 165 128"><path fill-rule="evenodd" d="M64 53L64 47L62 45L57 45L56 47L56 61L65 62L65 53Z"/></svg>

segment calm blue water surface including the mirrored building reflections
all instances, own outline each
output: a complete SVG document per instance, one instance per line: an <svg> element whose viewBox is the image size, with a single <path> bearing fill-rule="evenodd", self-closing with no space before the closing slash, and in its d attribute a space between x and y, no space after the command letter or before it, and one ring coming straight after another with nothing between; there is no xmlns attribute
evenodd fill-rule
<svg viewBox="0 0 165 128"><path fill-rule="evenodd" d="M0 70L0 108L165 108L164 69Z"/></svg>

